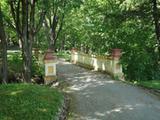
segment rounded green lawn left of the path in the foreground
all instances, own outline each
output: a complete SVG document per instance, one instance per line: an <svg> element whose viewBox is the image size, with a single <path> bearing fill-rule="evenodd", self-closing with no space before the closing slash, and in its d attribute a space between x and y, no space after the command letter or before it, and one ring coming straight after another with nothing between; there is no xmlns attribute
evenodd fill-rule
<svg viewBox="0 0 160 120"><path fill-rule="evenodd" d="M0 120L54 120L62 100L62 93L46 86L0 85Z"/></svg>

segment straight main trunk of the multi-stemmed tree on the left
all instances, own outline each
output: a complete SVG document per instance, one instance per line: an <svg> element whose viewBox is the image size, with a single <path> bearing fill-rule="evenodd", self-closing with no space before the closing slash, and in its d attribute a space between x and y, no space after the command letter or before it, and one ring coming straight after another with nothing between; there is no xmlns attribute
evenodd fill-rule
<svg viewBox="0 0 160 120"><path fill-rule="evenodd" d="M23 79L24 82L31 82L31 61L30 41L28 32L28 0L22 1L22 56L23 56Z"/></svg>

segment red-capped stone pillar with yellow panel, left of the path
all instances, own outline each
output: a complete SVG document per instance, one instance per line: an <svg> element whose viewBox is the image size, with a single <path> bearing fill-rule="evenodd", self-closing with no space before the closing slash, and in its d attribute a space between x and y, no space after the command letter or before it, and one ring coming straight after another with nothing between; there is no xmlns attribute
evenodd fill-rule
<svg viewBox="0 0 160 120"><path fill-rule="evenodd" d="M45 63L45 84L50 84L57 80L56 64L57 57L53 55L51 50L48 50L44 55Z"/></svg>

